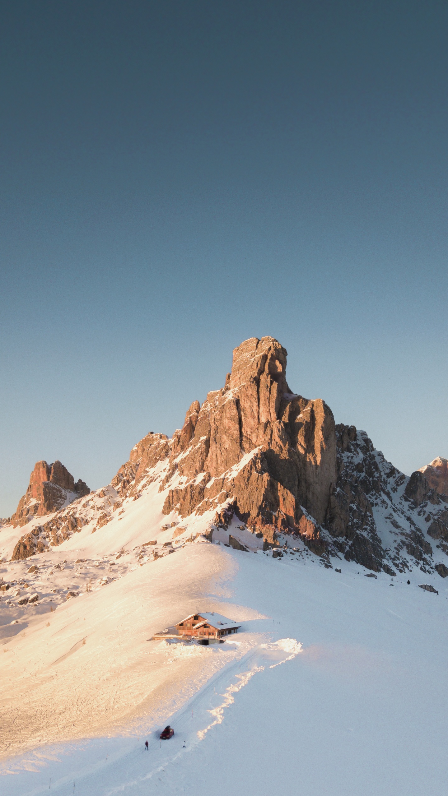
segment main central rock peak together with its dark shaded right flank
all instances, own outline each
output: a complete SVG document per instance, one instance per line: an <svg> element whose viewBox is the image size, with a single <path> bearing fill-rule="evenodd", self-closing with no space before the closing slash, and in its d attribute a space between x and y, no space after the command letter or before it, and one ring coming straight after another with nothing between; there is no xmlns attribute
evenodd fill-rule
<svg viewBox="0 0 448 796"><path fill-rule="evenodd" d="M336 427L324 401L291 392L285 371L286 351L273 338L234 350L224 388L209 392L202 407L191 404L173 436L163 511L187 517L224 505L262 531L265 549L278 545L279 533L293 533L319 556L342 554L391 577L415 564L434 571L420 517L441 501L426 478L407 479L365 431ZM427 514L436 521L428 533L437 529L444 540L441 510ZM378 511L386 513L387 533Z"/></svg>

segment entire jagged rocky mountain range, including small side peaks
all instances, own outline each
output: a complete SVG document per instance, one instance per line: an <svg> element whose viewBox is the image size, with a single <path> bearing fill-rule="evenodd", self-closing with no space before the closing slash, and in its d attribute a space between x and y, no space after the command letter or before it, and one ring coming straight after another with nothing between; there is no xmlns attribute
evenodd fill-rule
<svg viewBox="0 0 448 796"><path fill-rule="evenodd" d="M324 400L292 392L286 357L274 338L238 345L224 386L191 403L182 429L171 439L151 431L108 487L69 508L88 487L74 484L61 462L37 462L14 524L61 510L18 540L13 559L61 544L84 525L96 533L156 488L170 523L203 517L211 534L236 517L265 551L301 540L328 567L343 556L391 577L415 566L448 576L446 459L407 478L365 431L336 426Z"/></svg>

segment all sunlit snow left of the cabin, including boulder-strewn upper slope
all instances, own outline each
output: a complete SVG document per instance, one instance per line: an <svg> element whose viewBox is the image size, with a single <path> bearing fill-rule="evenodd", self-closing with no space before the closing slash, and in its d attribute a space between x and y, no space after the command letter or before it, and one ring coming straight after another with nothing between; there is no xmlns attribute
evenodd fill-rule
<svg viewBox="0 0 448 796"><path fill-rule="evenodd" d="M97 502L93 495L94 519L77 533L2 564L4 585L11 584L1 592L3 753L128 725L148 711L158 715L157 705L163 714L167 700L183 700L229 656L238 657L238 646L230 647L204 669L198 647L175 656L168 671L172 652L159 645L148 672L148 639L197 610L198 602L218 611L207 596L210 578L216 584L233 566L225 548L201 534L210 517L191 518L180 534L175 521L167 523L158 486L155 480L138 500L128 497L121 516L116 511L100 528L95 517L109 493ZM7 539L8 552L15 541ZM248 607L226 611L230 618L257 616Z"/></svg>

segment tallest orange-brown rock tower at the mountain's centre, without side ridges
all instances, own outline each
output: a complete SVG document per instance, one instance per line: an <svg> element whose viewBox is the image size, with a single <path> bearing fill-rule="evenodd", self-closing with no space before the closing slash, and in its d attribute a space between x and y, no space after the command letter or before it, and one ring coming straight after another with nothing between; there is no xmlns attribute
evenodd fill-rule
<svg viewBox="0 0 448 796"><path fill-rule="evenodd" d="M305 529L323 521L336 482L331 409L290 391L286 350L274 338L234 349L221 390L191 404L173 438L163 511L182 517L226 500L254 527ZM269 530L266 531L269 535Z"/></svg>

